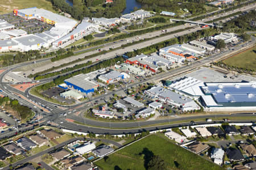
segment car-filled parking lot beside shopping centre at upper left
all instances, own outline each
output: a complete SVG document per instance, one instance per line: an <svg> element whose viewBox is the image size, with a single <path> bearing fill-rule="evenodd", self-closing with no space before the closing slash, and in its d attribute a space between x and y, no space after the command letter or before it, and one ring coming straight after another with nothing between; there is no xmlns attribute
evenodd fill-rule
<svg viewBox="0 0 256 170"><path fill-rule="evenodd" d="M10 24L14 24L16 28L23 29L29 33L40 33L48 31L53 26L43 23L36 19L26 20L19 16L14 16L13 13L0 15L0 19L6 20Z"/></svg>

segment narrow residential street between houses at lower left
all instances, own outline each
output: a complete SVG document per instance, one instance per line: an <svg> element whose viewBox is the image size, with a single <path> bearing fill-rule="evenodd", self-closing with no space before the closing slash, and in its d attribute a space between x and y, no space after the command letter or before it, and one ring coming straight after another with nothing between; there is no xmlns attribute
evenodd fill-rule
<svg viewBox="0 0 256 170"><path fill-rule="evenodd" d="M68 141L65 141L65 142L63 142L63 143L60 143L59 145L53 146L53 147L51 147L51 148L48 148L47 150L44 150L44 151L42 151L42 152L39 152L38 154L35 154L35 155L32 155L32 156L28 156L27 158L22 159L22 160L19 160L18 162L15 162L15 163L13 163L13 164L11 164L11 165L13 165L13 167L16 167L16 165L18 165L18 164L27 163L27 162L29 162L30 160L32 160L32 159L34 159L34 158L36 158L36 157L38 157L38 156L42 156L42 155L44 155L44 154L47 154L47 153L49 153L49 152L51 152L51 151L56 150L57 148L63 147L63 146L65 146L65 145L68 145L68 143L71 143L71 142L74 142L74 141L77 141L77 140L84 140L84 138L72 138L72 139L69 139ZM9 169L9 166L6 166L6 167L3 168L3 169L8 170L8 169Z"/></svg>

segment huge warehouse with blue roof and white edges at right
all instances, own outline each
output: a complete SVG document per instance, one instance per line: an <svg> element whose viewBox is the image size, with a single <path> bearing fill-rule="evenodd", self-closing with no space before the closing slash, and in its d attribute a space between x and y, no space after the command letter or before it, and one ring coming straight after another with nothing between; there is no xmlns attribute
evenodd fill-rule
<svg viewBox="0 0 256 170"><path fill-rule="evenodd" d="M205 107L256 108L256 82L205 83L201 89Z"/></svg>

